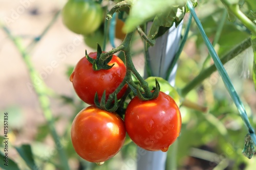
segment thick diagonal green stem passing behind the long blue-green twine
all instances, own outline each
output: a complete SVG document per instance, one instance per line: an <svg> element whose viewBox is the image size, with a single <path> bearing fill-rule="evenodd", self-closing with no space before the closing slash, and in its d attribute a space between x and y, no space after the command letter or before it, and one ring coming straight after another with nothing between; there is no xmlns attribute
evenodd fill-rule
<svg viewBox="0 0 256 170"><path fill-rule="evenodd" d="M227 63L229 60L233 59L234 57L238 56L240 53L242 53L244 50L246 50L248 47L251 46L250 38L247 38L244 42L242 42L240 45L235 47L233 50L231 50L228 54L221 57L222 64ZM208 68L205 68L200 72L200 74L195 77L190 83L188 83L184 88L180 90L181 96L185 97L186 94L200 85L206 78L208 78L214 71L216 71L215 64L209 66Z"/></svg>

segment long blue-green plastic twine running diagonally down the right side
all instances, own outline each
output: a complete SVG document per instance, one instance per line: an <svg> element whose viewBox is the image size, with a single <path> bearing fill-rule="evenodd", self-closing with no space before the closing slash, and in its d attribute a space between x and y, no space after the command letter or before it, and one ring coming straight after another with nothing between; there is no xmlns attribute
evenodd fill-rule
<svg viewBox="0 0 256 170"><path fill-rule="evenodd" d="M203 26L202 26L199 18L197 17L197 14L194 10L193 5L191 4L191 2L189 0L187 1L187 7L188 7L189 11L191 12L191 15L193 16L193 18L194 18L194 20L197 24L197 27L198 27L198 29L199 29L202 37L203 37L203 40L204 40L204 42L205 42L205 44L208 48L209 54L210 54L212 60L214 60L214 64L216 65L216 68L217 68L217 70L218 70L218 72L219 72L219 74L220 74L220 76L221 76L221 78L222 78L222 80L225 84L226 89L228 90L229 95L231 96L234 104L237 106L238 111L239 111L245 125L247 126L247 128L249 130L249 133L250 133L251 138L254 142L254 145L256 145L256 135L254 133L253 128L250 125L250 122L249 122L248 116L246 114L244 105L241 102L241 100L238 96L238 93L234 89L234 87L233 87L233 85L232 85L232 83L231 83L231 81L230 81L230 79L227 75L227 72L226 72L225 68L223 67L217 53L214 50L214 47L211 45L209 39L207 38L207 36L206 36L206 34L203 30Z"/></svg>

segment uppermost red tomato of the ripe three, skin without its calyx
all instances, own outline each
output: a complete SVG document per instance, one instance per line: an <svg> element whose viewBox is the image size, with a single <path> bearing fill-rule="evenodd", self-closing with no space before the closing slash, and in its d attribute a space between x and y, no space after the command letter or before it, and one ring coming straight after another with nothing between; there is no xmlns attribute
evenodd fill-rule
<svg viewBox="0 0 256 170"><path fill-rule="evenodd" d="M103 52L105 53L105 52ZM97 52L90 53L89 56L96 59ZM111 69L101 69L94 71L92 64L86 57L80 59L70 76L74 89L79 98L89 105L94 105L94 96L97 91L99 101L101 100L104 90L106 91L106 99L115 91L118 85L123 81L126 74L126 67L121 59L113 55L109 65L115 64ZM120 99L125 93L127 85L117 94Z"/></svg>

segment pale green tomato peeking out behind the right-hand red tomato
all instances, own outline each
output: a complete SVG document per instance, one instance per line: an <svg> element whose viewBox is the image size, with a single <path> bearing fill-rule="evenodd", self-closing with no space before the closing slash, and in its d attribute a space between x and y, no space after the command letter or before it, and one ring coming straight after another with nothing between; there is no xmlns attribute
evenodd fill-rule
<svg viewBox="0 0 256 170"><path fill-rule="evenodd" d="M150 88L156 87L156 79L159 82L160 91L164 92L165 94L168 94L171 98L174 99L176 104L180 106L181 98L178 91L173 86L171 86L168 81L164 80L163 78L161 77L146 78L145 81L148 83L148 87Z"/></svg>

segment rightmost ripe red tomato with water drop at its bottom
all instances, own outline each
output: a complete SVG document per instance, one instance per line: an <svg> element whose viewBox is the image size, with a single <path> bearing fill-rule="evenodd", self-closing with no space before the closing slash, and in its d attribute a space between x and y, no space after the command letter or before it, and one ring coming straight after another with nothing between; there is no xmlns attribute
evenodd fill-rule
<svg viewBox="0 0 256 170"><path fill-rule="evenodd" d="M124 123L127 134L139 147L166 152L179 136L181 114L175 101L160 91L154 100L133 98L127 106Z"/></svg>

